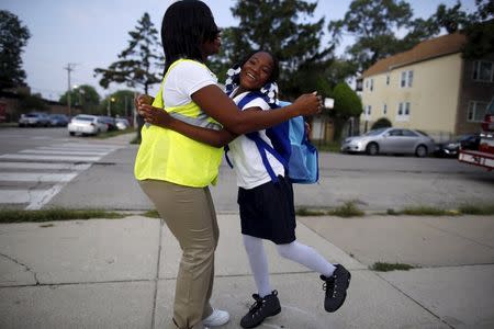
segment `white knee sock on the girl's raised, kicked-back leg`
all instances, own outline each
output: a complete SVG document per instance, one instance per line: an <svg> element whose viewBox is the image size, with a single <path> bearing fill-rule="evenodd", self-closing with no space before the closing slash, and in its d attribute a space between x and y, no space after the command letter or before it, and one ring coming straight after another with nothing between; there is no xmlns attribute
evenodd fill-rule
<svg viewBox="0 0 494 329"><path fill-rule="evenodd" d="M324 259L314 248L299 243L277 245L278 253L325 276L333 275L335 266Z"/></svg>

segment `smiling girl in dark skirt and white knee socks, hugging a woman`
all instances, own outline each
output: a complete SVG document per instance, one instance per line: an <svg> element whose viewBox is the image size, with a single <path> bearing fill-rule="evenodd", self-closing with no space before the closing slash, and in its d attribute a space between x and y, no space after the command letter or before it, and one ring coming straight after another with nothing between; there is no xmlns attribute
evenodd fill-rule
<svg viewBox="0 0 494 329"><path fill-rule="evenodd" d="M271 105L277 102L278 67L278 61L270 53L259 50L247 56L239 67L228 71L227 92L231 92L229 97L237 105L244 104L240 109L244 113L271 110ZM261 94L251 100L246 99L247 103L243 102L251 91ZM268 154L271 168L278 175L278 182L273 182L256 143L247 136L235 138L225 129L213 131L189 125L149 105L143 104L139 110L146 122L173 129L199 141L213 146L229 143L237 177L243 240L258 291L252 295L254 305L240 320L243 328L257 327L267 317L281 311L278 292L272 290L269 282L262 242L265 239L277 245L281 257L321 274L325 283L324 307L327 311L336 311L343 305L351 275L343 265L333 265L313 248L296 240L293 190L281 162ZM266 131L260 131L259 135L272 146Z"/></svg>

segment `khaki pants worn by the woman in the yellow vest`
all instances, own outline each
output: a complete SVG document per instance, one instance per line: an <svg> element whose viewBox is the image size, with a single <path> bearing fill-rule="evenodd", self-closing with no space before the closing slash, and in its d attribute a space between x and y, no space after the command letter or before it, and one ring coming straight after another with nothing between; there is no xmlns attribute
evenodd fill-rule
<svg viewBox="0 0 494 329"><path fill-rule="evenodd" d="M166 181L139 181L144 193L182 249L175 291L173 321L180 328L201 326L213 309L214 251L220 230L209 188L188 188Z"/></svg>

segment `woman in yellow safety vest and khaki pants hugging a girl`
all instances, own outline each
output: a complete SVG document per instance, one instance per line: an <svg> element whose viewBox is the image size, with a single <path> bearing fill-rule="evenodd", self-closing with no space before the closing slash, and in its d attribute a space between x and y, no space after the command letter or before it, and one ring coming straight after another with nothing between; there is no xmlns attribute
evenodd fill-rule
<svg viewBox="0 0 494 329"><path fill-rule="evenodd" d="M161 24L166 66L154 104L197 125L245 134L296 115L321 111L315 94L304 94L280 111L238 111L205 66L221 39L210 8L199 0L175 1ZM146 99L146 98L143 98ZM173 316L180 329L214 327L229 320L213 309L214 252L218 227L209 184L216 181L222 149L170 129L144 126L134 174L182 250L177 274Z"/></svg>

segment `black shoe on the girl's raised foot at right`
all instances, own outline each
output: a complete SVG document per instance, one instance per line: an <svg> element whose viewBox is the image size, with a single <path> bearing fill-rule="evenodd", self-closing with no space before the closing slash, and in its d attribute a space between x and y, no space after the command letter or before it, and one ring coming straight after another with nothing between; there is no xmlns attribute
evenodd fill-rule
<svg viewBox="0 0 494 329"><path fill-rule="evenodd" d="M335 272L329 277L321 275L324 281L323 290L326 291L324 298L324 309L327 311L336 311L345 303L347 297L347 290L350 285L350 272L343 265L337 264Z"/></svg>

